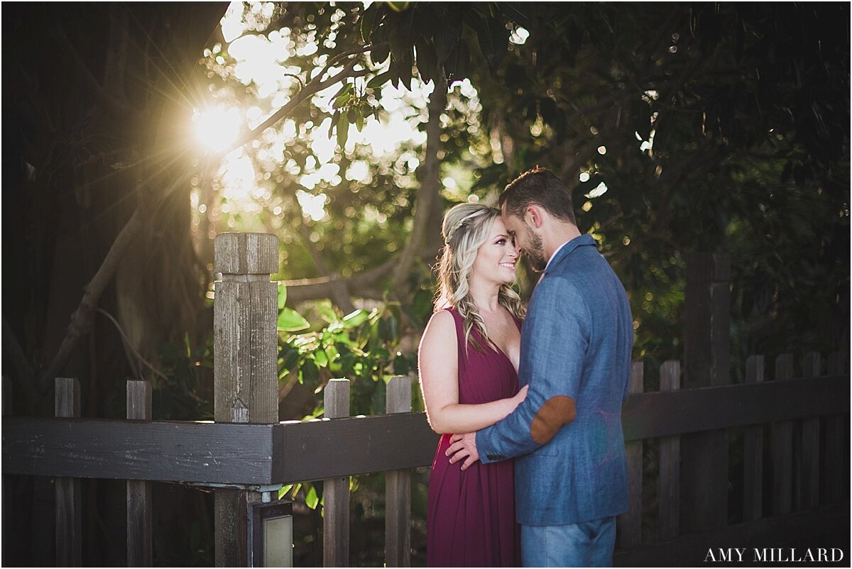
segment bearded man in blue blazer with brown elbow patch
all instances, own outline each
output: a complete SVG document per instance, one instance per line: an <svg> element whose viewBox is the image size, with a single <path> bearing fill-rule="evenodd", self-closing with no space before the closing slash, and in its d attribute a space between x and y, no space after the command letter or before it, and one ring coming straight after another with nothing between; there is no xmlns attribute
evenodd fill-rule
<svg viewBox="0 0 852 569"><path fill-rule="evenodd" d="M503 421L455 435L447 454L462 468L517 457L524 566L611 566L615 516L627 509L630 304L550 170L518 176L500 206L515 246L544 271L521 333L519 380L529 391Z"/></svg>

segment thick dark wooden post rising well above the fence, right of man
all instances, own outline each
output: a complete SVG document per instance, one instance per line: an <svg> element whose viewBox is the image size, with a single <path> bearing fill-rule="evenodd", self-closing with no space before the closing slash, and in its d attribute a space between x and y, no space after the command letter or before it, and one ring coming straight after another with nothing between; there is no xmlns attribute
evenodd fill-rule
<svg viewBox="0 0 852 569"><path fill-rule="evenodd" d="M730 383L730 257L687 257L684 388ZM681 532L728 523L728 436L724 430L681 437Z"/></svg>

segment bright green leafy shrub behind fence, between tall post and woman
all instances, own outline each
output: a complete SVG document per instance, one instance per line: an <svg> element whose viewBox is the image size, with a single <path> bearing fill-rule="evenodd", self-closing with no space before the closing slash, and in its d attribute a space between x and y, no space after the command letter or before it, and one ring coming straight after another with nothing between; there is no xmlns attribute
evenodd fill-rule
<svg viewBox="0 0 852 569"><path fill-rule="evenodd" d="M322 389L332 377L350 381L350 409L353 415L375 415L385 412L385 386L392 376L408 375L417 369L417 354L400 351L400 339L405 330L399 302L384 302L371 310L359 309L340 317L330 304L308 306L308 317L318 323L311 326L302 314L286 306L286 287L279 286L279 383L285 392L291 383L298 382L317 397L314 408L303 419L320 417L324 413ZM423 315L421 315L421 318ZM309 329L301 333L289 333ZM416 395L415 411L423 411L422 400ZM362 563L372 565L381 559L384 531L384 475L360 475L350 478L353 492L354 535L365 538L366 545L355 548L366 555ZM302 482L281 488L279 497L288 497L317 510L323 504L321 482ZM425 519L425 511L415 511ZM312 543L320 541L319 520L306 525L294 534L296 556L302 563L311 564ZM373 535L375 534L375 536ZM370 536L370 537L368 537ZM369 544L369 545L368 545ZM357 565L357 564L356 564Z"/></svg>

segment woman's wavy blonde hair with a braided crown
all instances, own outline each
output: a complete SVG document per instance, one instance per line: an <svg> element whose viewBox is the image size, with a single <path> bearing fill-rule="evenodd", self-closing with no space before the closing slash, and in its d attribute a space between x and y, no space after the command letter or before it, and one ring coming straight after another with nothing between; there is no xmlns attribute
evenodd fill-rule
<svg viewBox="0 0 852 569"><path fill-rule="evenodd" d="M441 234L444 236L444 250L438 262L438 290L435 295L435 311L446 305L454 307L464 319L464 345L473 344L483 351L479 342L470 336L470 330L479 330L486 343L493 343L488 337L485 322L476 310L470 296L470 272L476 260L476 250L488 239L494 220L500 216L500 210L481 204L458 204L444 214ZM509 284L500 285L498 302L509 310L516 319L523 319L527 312L521 305L521 296Z"/></svg>

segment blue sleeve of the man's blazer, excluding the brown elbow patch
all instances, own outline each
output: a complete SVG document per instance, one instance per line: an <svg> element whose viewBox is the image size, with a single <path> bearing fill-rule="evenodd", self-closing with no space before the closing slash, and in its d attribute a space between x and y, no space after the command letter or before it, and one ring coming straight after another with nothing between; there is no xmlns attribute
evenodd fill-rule
<svg viewBox="0 0 852 569"><path fill-rule="evenodd" d="M518 375L521 386L529 385L527 399L502 421L477 432L482 463L536 450L541 444L533 439L533 420L545 403L566 397L576 403L590 328L590 312L579 290L558 275L546 275L536 286L521 333Z"/></svg>

